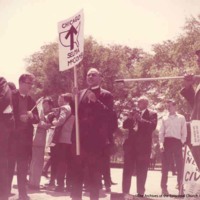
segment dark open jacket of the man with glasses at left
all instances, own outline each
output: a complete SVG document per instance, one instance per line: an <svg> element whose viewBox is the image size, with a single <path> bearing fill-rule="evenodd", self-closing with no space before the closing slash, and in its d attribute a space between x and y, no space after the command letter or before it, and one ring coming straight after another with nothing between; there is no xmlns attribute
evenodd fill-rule
<svg viewBox="0 0 200 200"><path fill-rule="evenodd" d="M21 130L19 122L20 122L20 116L19 116L19 91L16 90L12 94L12 101L13 101L13 112L15 117L15 124L16 124L16 130L15 130L15 137L17 141L24 145L32 145L33 140L33 124L37 124L39 122L38 117L38 111L37 108L33 110L33 119L29 120L27 122L27 126L25 130ZM27 106L28 110L31 110L35 106L34 100L27 96Z"/></svg>

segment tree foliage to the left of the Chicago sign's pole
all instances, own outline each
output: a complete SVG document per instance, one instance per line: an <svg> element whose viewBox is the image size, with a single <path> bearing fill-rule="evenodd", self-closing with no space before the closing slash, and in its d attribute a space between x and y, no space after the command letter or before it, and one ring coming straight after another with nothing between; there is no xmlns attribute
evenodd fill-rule
<svg viewBox="0 0 200 200"><path fill-rule="evenodd" d="M36 77L34 95L36 97L58 94L71 91L72 70L59 71L58 44L50 43L41 47L39 52L26 59L27 71Z"/></svg>

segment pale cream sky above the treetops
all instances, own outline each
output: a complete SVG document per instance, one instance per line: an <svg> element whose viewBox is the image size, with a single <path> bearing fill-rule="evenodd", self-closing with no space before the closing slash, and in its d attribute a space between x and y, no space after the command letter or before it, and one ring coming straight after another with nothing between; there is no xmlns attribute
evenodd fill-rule
<svg viewBox="0 0 200 200"><path fill-rule="evenodd" d="M57 23L84 11L84 36L151 52L175 40L200 0L0 0L0 76L17 85L26 62L58 39Z"/></svg>

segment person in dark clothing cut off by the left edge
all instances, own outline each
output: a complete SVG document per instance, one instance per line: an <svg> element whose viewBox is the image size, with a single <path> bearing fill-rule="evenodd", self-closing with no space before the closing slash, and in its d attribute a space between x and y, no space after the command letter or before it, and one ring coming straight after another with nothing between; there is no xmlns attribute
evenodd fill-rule
<svg viewBox="0 0 200 200"><path fill-rule="evenodd" d="M14 130L11 91L5 78L0 77L0 199L7 200L9 137Z"/></svg>

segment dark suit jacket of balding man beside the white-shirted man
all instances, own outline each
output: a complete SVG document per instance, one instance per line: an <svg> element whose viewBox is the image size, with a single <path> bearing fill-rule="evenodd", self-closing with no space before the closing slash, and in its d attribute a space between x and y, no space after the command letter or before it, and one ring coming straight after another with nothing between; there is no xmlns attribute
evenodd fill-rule
<svg viewBox="0 0 200 200"><path fill-rule="evenodd" d="M124 121L123 127L129 129L129 142L128 145L132 145L132 151L137 155L151 154L152 133L157 126L157 113L146 109L142 115L142 120L137 122L137 131L133 130L135 121L127 119ZM127 145L125 144L125 145Z"/></svg>

